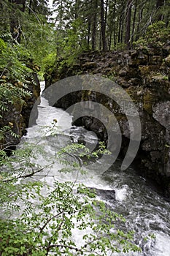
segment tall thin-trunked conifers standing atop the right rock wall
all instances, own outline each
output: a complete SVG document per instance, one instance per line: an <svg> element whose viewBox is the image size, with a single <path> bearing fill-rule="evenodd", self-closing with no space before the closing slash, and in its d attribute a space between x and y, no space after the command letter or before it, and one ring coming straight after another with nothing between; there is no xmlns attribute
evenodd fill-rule
<svg viewBox="0 0 170 256"><path fill-rule="evenodd" d="M81 20L79 40L92 50L102 49L102 28L108 50L117 50L124 48L124 44L126 48L127 44L131 47L152 23L159 20L163 20L166 26L169 23L169 0L54 0L53 3L53 17L57 20L58 32L65 31L67 34L72 23ZM101 10L104 11L102 18ZM85 37L81 37L82 31Z"/></svg>

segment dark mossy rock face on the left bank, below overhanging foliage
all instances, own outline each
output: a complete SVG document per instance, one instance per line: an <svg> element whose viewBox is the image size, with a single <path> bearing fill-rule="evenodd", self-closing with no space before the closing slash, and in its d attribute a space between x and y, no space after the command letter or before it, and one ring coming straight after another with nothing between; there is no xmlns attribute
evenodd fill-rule
<svg viewBox="0 0 170 256"><path fill-rule="evenodd" d="M12 104L8 105L8 110L2 113L0 127L10 127L18 137L12 135L11 132L5 132L5 137L0 139L1 148L15 148L15 145L20 142L21 136L26 134L31 110L40 94L40 83L36 72L32 73L30 79L28 91L31 92L31 97L26 97L24 102L19 98L15 99ZM38 113L34 112L36 120Z"/></svg>

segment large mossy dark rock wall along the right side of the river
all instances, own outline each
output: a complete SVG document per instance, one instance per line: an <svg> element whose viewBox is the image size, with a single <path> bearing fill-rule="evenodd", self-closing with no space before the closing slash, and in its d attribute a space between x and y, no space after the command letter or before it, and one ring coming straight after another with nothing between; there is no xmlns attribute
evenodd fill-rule
<svg viewBox="0 0 170 256"><path fill-rule="evenodd" d="M170 197L170 45L163 48L138 48L124 52L83 53L73 67L63 65L46 74L46 87L72 75L93 74L105 76L122 86L133 99L139 112L142 138L136 159L144 175L155 179ZM107 102L115 113L116 105L109 98L94 91L66 95L56 106L68 108L75 102L93 100ZM109 103L108 103L109 102ZM128 120L115 113L123 135L122 153L130 139ZM77 124L84 125L107 140L103 124L93 117L83 117Z"/></svg>

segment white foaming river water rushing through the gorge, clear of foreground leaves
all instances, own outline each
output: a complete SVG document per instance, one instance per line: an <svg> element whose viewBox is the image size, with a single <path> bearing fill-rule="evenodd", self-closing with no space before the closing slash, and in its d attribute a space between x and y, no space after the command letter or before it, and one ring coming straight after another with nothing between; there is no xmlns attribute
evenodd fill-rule
<svg viewBox="0 0 170 256"><path fill-rule="evenodd" d="M86 145L90 148L96 146L97 138L93 132L88 132L82 127L72 127L72 116L61 109L50 107L44 98L39 105L37 125L28 129L28 134L23 140L33 142L40 140L39 130L42 128L39 129L39 127L51 124L55 118L60 127L58 136L53 138L46 134L46 138L43 139L45 140L43 143L47 144L46 148L49 155L53 155L54 147L55 149L60 148L70 141L85 140ZM45 160L42 158L39 161L42 163ZM77 176L76 173L59 173L57 170L61 166L56 164L50 173L48 172L48 175L44 175L42 179L50 184L53 182L53 176L57 177L58 181L74 181L77 178L78 181L83 182L88 187L98 189L98 196L108 205L111 205L117 213L123 214L128 230L136 231L136 244L142 246L143 249L143 252L137 255L170 256L169 202L155 189L152 189L144 178L138 176L132 167L120 171L120 164L120 160L117 160L103 174L98 174L97 170L90 170L84 176ZM113 193L114 190L115 194ZM155 239L149 238L146 243L143 243L144 238L150 233L155 235ZM78 239L77 236L77 241ZM133 255L133 253L128 255Z"/></svg>

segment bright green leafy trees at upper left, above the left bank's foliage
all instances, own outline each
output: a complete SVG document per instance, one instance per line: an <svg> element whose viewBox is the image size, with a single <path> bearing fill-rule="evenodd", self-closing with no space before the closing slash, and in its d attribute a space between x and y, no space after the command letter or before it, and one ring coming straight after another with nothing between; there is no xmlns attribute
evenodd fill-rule
<svg viewBox="0 0 170 256"><path fill-rule="evenodd" d="M18 1L20 2L20 1ZM1 32L0 38L5 42L13 43L20 50L29 54L30 58L44 69L42 60L55 50L53 23L48 22L47 1L24 1L21 4L2 1L0 3ZM21 49L22 48L22 49Z"/></svg>

